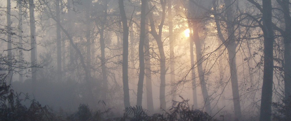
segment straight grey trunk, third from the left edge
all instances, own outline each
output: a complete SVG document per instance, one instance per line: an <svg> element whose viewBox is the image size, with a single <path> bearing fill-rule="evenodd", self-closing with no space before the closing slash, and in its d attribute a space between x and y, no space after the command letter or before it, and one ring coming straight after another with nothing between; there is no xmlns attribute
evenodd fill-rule
<svg viewBox="0 0 291 121"><path fill-rule="evenodd" d="M36 26L34 21L34 3L29 0L29 23L30 23L30 47L31 47L31 73L33 92L36 88L36 64L37 64L37 45L36 45Z"/></svg>

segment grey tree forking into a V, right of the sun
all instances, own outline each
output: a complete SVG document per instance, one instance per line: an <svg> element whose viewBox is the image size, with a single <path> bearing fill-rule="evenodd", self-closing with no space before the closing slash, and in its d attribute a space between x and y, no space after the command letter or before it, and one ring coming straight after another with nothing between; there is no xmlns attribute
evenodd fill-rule
<svg viewBox="0 0 291 121"><path fill-rule="evenodd" d="M226 31L227 38L223 37L221 25L219 23L219 17L223 18L220 14L217 13L217 6L214 3L214 15L215 15L215 23L217 26L217 33L220 41L224 44L228 51L228 64L230 68L230 80L231 87L233 92L233 106L235 110L235 117L240 119L242 117L241 109L240 109L240 98L239 98L239 89L238 89L238 81L237 81L237 65L236 65L236 48L239 42L235 40L235 30L234 30L234 15L233 15L233 1L225 0L224 4L226 5ZM219 16L219 17L218 17Z"/></svg>

